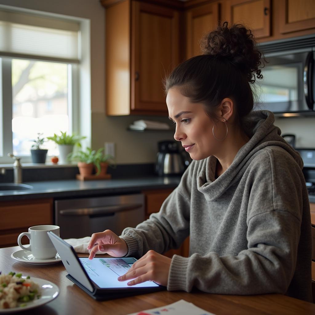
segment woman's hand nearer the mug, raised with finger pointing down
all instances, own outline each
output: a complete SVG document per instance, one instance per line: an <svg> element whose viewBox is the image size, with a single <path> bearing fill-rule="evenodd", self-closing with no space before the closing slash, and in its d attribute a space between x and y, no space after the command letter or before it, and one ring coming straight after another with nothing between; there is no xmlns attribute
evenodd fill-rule
<svg viewBox="0 0 315 315"><path fill-rule="evenodd" d="M128 253L126 242L111 230L93 233L87 249L91 249L89 259L93 259L98 250L113 257L123 257Z"/></svg>

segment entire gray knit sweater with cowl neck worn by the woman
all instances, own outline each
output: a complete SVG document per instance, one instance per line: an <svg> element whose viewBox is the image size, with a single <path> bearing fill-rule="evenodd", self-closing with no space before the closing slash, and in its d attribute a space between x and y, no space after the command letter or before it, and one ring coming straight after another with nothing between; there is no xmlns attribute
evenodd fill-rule
<svg viewBox="0 0 315 315"><path fill-rule="evenodd" d="M268 111L252 112L250 140L217 179L217 159L193 161L160 211L123 230L128 254L178 248L168 290L311 297L311 219L298 152ZM251 133L251 134L250 134Z"/></svg>

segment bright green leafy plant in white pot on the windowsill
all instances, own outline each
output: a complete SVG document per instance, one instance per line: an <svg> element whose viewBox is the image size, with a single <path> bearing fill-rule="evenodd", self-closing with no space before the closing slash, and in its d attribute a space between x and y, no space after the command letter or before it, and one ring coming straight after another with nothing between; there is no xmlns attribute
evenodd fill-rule
<svg viewBox="0 0 315 315"><path fill-rule="evenodd" d="M60 132L61 135L54 134L53 137L47 137L47 139L57 143L59 149L59 162L61 164L66 164L69 153L73 151L73 146L79 144L80 141L86 137L79 135L67 135L66 132Z"/></svg>

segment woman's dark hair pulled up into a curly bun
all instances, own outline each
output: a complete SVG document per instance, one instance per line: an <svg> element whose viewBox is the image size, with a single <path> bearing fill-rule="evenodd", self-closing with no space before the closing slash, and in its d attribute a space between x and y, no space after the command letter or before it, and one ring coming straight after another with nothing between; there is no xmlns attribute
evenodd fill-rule
<svg viewBox="0 0 315 315"><path fill-rule="evenodd" d="M184 61L165 79L166 94L178 87L191 102L203 103L212 118L215 107L229 97L235 104L235 122L246 132L246 116L254 106L250 84L263 77L266 61L252 32L241 24L219 23L201 40L201 51L202 55Z"/></svg>

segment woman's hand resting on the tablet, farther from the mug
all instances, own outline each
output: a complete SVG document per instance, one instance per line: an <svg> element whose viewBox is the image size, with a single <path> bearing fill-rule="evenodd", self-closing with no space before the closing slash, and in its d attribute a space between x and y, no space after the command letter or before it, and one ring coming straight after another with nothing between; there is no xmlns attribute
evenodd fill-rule
<svg viewBox="0 0 315 315"><path fill-rule="evenodd" d="M172 259L154 250L149 250L144 256L136 261L123 276L118 277L119 281L129 281L128 285L134 285L145 281L154 281L157 284L167 286L169 268Z"/></svg>

